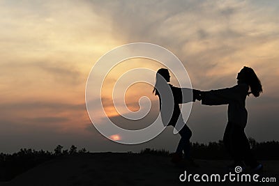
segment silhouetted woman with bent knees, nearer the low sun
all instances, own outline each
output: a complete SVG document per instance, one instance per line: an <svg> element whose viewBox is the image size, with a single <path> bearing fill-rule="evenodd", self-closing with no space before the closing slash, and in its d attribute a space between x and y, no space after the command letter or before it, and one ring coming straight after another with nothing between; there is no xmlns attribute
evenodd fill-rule
<svg viewBox="0 0 279 186"><path fill-rule="evenodd" d="M155 93L155 95L158 95L159 97L160 114L164 125L172 125L173 127L175 127L176 124L179 124L181 126L185 124L182 127L182 129L179 130L181 139L176 148L176 153L174 153L172 156L172 162L174 162L175 164L187 162L190 163L190 166L197 166L193 162L193 160L190 159L190 137L192 136L192 132L190 128L186 125L186 123L183 121L179 104L190 101L195 102L195 95L199 95L199 91L192 90L190 88L178 88L172 86L172 84L168 84L169 81L169 71L165 68L160 68L156 73L156 84L154 86L153 93ZM185 96L184 94L187 95Z"/></svg>

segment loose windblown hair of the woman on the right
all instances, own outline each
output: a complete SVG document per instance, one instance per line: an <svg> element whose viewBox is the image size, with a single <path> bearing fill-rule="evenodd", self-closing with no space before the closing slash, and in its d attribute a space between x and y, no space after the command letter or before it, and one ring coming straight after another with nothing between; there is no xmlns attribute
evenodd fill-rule
<svg viewBox="0 0 279 186"><path fill-rule="evenodd" d="M256 73L252 68L249 67L243 67L243 82L248 84L250 86L250 93L254 95L255 97L258 97L260 93L262 93L262 84L259 81L259 78L257 77Z"/></svg>

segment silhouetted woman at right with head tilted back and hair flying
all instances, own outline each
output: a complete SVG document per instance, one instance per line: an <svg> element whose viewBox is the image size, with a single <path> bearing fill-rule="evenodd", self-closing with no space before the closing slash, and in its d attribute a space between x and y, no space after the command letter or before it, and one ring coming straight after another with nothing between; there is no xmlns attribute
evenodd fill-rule
<svg viewBox="0 0 279 186"><path fill-rule="evenodd" d="M258 97L262 93L262 84L254 70L246 66L238 73L236 79L236 86L213 91L202 91L200 92L200 98L202 99L202 104L206 105L229 104L228 123L223 137L225 148L234 160L229 169L246 165L255 171L259 171L263 169L263 166L253 157L244 129L248 117L245 107L246 96L252 93L252 95Z"/></svg>

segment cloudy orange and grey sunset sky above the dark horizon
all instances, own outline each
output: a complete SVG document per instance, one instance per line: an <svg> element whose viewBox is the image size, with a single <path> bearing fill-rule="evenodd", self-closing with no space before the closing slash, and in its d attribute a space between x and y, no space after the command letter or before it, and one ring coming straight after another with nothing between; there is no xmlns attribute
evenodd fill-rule
<svg viewBox="0 0 279 186"><path fill-rule="evenodd" d="M188 70L193 88L204 91L234 86L237 72L250 66L264 93L246 100L246 134L257 141L279 140L278 17L278 1L0 1L0 152L53 150L58 144L90 151L174 150L179 136L171 127L147 143L127 146L105 139L89 120L84 94L92 66L130 42L169 49ZM103 87L112 120L129 127L111 104L116 79L133 68L162 67L133 59L112 70ZM136 84L126 93L133 111L140 97L151 99L155 109L146 121L158 114L151 91L150 85ZM188 120L192 141L222 139L226 122L227 106L195 102Z"/></svg>

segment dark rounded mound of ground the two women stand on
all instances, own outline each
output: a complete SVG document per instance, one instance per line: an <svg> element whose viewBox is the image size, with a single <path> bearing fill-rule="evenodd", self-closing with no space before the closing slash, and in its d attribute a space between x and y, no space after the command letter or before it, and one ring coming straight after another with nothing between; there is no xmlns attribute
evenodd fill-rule
<svg viewBox="0 0 279 186"><path fill-rule="evenodd" d="M134 153L85 153L58 157L22 173L1 185L224 185L224 183L181 182L179 176L187 173L227 173L224 160L196 160L199 168L179 168L170 157ZM279 161L264 161L264 177L276 177L278 185ZM229 183L226 185L255 185L255 183Z"/></svg>

